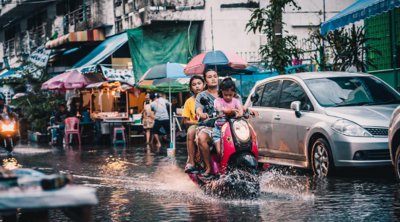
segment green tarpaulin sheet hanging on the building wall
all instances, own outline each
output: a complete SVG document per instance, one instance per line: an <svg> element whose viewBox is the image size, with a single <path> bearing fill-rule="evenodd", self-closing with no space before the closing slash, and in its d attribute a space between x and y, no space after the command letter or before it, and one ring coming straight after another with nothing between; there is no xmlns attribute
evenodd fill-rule
<svg viewBox="0 0 400 222"><path fill-rule="evenodd" d="M187 63L197 54L199 27L195 22L163 22L128 30L135 80L154 65Z"/></svg>

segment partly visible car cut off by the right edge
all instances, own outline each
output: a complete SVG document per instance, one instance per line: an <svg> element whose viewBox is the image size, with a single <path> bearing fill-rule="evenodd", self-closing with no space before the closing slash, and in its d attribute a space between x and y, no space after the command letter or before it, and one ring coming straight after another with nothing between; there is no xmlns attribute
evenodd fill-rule
<svg viewBox="0 0 400 222"><path fill-rule="evenodd" d="M389 150L396 179L400 181L400 106L393 112L389 124Z"/></svg>

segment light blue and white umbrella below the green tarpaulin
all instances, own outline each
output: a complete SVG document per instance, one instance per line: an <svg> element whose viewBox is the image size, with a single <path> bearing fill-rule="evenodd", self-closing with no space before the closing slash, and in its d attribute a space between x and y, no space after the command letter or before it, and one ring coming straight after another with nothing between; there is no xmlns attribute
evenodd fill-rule
<svg viewBox="0 0 400 222"><path fill-rule="evenodd" d="M142 76L140 81L142 80L154 80L154 79L162 79L162 78L184 78L185 73L183 69L185 68L184 64L180 63L165 63L160 65L155 65L151 67L147 72Z"/></svg>

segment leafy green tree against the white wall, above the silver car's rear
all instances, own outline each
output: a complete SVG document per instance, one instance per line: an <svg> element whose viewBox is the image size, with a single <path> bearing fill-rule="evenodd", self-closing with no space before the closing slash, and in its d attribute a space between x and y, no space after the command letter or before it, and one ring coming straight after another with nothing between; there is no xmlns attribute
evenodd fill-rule
<svg viewBox="0 0 400 222"><path fill-rule="evenodd" d="M283 35L282 13L287 7L300 9L295 0L271 0L265 8L256 9L246 24L248 32L259 32L267 38L267 44L260 47L265 64L279 73L292 65L292 59L301 56L303 51L297 48L297 37Z"/></svg>

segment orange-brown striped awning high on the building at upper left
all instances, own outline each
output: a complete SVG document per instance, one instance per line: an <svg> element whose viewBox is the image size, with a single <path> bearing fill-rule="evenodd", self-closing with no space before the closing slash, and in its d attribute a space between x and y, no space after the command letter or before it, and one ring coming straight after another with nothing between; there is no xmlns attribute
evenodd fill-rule
<svg viewBox="0 0 400 222"><path fill-rule="evenodd" d="M80 32L71 32L57 39L48 41L46 43L46 48L52 49L58 46L64 45L66 43L73 42L93 42L93 41L103 41L105 39L104 32L101 29L85 30Z"/></svg>

